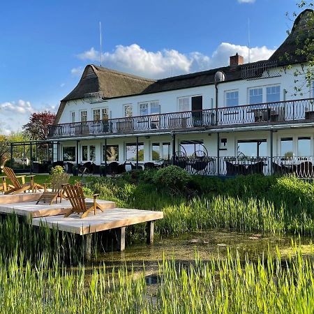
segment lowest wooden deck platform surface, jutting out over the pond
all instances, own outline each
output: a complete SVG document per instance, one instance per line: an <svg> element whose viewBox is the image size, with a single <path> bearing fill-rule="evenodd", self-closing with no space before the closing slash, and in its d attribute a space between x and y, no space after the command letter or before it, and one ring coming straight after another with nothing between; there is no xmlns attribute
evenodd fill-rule
<svg viewBox="0 0 314 314"><path fill-rule="evenodd" d="M96 215L90 213L85 218L80 218L77 214L72 214L66 218L63 216L34 218L33 225L47 225L50 228L54 227L61 231L83 235L135 225L136 223L147 223L161 218L163 218L162 211L114 208L103 212L98 210Z"/></svg>

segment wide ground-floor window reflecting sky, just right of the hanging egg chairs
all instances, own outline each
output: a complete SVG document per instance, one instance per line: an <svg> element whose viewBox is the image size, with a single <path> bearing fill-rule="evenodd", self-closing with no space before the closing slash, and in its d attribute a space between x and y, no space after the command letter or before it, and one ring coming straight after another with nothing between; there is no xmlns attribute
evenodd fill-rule
<svg viewBox="0 0 314 314"><path fill-rule="evenodd" d="M239 140L237 156L239 158L267 156L267 140Z"/></svg>

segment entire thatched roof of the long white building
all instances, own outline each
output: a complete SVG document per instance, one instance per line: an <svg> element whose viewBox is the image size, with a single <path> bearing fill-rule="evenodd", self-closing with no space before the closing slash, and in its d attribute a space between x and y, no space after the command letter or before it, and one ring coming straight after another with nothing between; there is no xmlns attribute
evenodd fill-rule
<svg viewBox="0 0 314 314"><path fill-rule="evenodd" d="M268 61L277 61L278 66L300 63L306 61L305 55L298 55L296 51L304 46L305 40L314 38L313 28L308 28L308 17L313 10L304 10L294 21L294 26L284 43L278 47L276 52ZM264 63L267 61L258 61ZM250 63L253 66L255 63ZM244 64L248 66L248 64ZM168 77L162 80L150 80L144 77L122 73L117 70L110 70L90 64L86 66L80 82L73 91L68 94L59 106L55 124L59 122L63 108L67 100L85 98L86 94L101 92L104 99L135 96L141 94L158 93L175 89L186 89L214 84L214 77L217 71L225 73L226 81L241 80L241 70L244 66L225 66L197 73Z"/></svg>

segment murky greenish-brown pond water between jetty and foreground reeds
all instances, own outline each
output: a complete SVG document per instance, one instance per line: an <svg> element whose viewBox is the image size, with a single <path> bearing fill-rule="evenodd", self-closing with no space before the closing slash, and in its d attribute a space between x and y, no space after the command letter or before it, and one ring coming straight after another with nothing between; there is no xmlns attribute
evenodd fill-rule
<svg viewBox="0 0 314 314"><path fill-rule="evenodd" d="M203 261L214 258L223 258L230 248L232 253L238 251L244 259L247 254L250 260L257 260L268 251L276 254L276 248L282 257L293 254L292 240L301 241L302 251L312 253L311 238L297 236L274 236L261 234L248 234L230 231L206 231L181 234L177 237L155 239L154 244L135 243L126 246L124 252L108 252L100 254L91 261L94 267L99 263L105 263L108 269L126 265L141 271L143 264L147 274L158 273L158 262L165 259L175 258L181 264L191 264L195 261L195 253L200 255ZM314 252L313 252L314 255Z"/></svg>

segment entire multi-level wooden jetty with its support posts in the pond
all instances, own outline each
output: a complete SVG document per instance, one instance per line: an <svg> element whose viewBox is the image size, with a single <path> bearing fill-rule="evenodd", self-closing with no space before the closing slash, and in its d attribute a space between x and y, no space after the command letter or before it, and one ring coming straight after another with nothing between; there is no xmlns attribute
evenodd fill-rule
<svg viewBox="0 0 314 314"><path fill-rule="evenodd" d="M31 194L37 194L37 200L41 195L41 193L24 193L25 196L17 195L16 202L11 203L8 203L8 199L3 198L6 195L0 195L0 214L29 216L32 218L34 226L55 228L62 232L72 232L79 237L83 237L84 255L87 259L91 257L92 234L105 230L114 230L117 234L117 248L119 251L124 251L126 227L137 223L147 223L147 243L153 243L154 221L163 218L162 211L116 208L114 202L105 200L97 200L104 209L103 212L98 210L96 215L91 212L84 218L80 218L78 214L71 214L65 218L64 214L71 208L70 202L63 200L61 203L52 205L36 204L36 200L19 202L27 200L27 197L35 197ZM87 201L92 200L87 199Z"/></svg>

